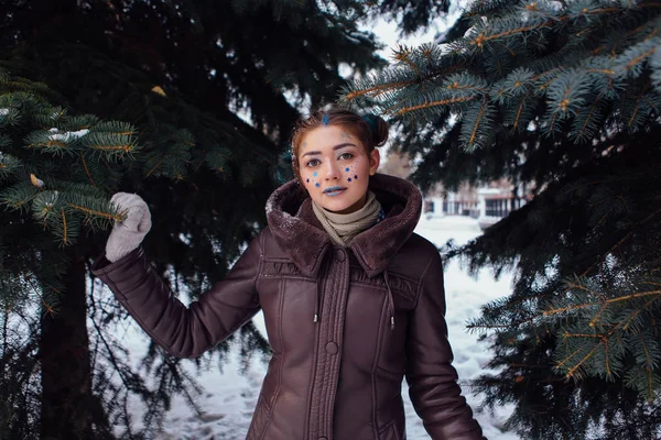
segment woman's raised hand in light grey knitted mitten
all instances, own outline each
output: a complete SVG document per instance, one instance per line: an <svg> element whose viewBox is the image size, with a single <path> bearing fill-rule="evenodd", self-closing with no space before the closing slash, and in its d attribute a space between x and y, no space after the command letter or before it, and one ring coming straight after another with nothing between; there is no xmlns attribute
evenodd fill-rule
<svg viewBox="0 0 661 440"><path fill-rule="evenodd" d="M115 222L106 243L106 258L116 262L142 243L151 228L149 207L137 194L117 193L110 199L115 209L126 215L122 222Z"/></svg>

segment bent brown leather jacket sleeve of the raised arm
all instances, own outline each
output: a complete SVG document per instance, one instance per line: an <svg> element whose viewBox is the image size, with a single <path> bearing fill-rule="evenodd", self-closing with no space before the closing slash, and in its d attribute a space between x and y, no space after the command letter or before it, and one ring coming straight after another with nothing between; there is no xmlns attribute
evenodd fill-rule
<svg viewBox="0 0 661 440"><path fill-rule="evenodd" d="M93 273L159 345L177 358L196 358L259 311L259 241L252 240L227 276L188 308L154 272L141 249L110 264L104 257Z"/></svg>

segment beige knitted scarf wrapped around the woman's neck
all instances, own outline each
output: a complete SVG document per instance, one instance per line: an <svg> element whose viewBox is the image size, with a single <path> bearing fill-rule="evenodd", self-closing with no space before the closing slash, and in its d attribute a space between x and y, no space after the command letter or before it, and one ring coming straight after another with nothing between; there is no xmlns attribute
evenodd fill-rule
<svg viewBox="0 0 661 440"><path fill-rule="evenodd" d="M347 246L354 237L377 223L381 212L381 204L372 191L367 193L365 206L351 213L335 213L325 210L312 201L314 215L319 220L330 240L339 245Z"/></svg>

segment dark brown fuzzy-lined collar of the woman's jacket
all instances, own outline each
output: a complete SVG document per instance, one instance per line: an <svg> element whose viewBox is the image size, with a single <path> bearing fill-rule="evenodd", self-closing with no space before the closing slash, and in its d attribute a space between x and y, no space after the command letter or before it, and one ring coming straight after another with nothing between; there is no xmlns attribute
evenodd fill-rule
<svg viewBox="0 0 661 440"><path fill-rule="evenodd" d="M349 249L368 276L383 272L388 262L409 240L422 209L420 190L399 177L376 174L371 189L386 211L386 219L359 233ZM306 276L316 277L326 251L333 246L314 212L312 200L297 180L278 188L267 202L267 220L275 242Z"/></svg>

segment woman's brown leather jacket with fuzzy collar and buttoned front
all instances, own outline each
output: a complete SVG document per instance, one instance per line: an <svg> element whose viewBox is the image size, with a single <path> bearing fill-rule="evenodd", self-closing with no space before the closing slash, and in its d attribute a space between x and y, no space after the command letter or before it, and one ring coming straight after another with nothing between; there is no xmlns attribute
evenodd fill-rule
<svg viewBox="0 0 661 440"><path fill-rule="evenodd" d="M303 188L285 184L269 228L189 308L141 250L94 273L175 356L198 356L263 310L273 356L248 439L402 440L404 375L433 439L484 439L451 365L441 257L413 234L420 191L383 175L370 189L387 217L342 249Z"/></svg>

